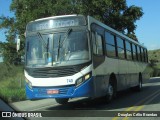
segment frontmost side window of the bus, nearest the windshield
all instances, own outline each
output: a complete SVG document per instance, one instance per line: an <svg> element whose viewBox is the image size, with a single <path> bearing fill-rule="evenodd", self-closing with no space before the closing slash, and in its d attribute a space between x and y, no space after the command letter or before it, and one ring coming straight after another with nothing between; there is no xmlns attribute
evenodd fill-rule
<svg viewBox="0 0 160 120"><path fill-rule="evenodd" d="M103 55L102 36L97 34L93 36L93 53L96 55Z"/></svg>

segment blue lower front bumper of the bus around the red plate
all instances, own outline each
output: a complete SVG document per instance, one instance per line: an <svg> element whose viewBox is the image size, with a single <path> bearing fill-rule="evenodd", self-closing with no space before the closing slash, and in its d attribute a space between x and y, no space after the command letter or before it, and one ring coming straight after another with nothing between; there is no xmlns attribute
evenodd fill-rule
<svg viewBox="0 0 160 120"><path fill-rule="evenodd" d="M58 94L47 94L47 90L58 90ZM92 97L94 95L93 77L82 83L80 86L69 87L33 87L32 90L26 85L26 96L28 99L43 98L74 98Z"/></svg>

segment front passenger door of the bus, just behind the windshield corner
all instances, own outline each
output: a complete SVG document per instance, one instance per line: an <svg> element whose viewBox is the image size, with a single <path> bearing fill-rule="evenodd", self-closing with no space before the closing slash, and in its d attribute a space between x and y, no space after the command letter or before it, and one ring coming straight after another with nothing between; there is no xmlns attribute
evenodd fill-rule
<svg viewBox="0 0 160 120"><path fill-rule="evenodd" d="M104 76L104 46L103 36L97 32L92 33L92 45L93 45L93 75L94 75L94 87L95 96L102 96L106 89L105 76Z"/></svg>

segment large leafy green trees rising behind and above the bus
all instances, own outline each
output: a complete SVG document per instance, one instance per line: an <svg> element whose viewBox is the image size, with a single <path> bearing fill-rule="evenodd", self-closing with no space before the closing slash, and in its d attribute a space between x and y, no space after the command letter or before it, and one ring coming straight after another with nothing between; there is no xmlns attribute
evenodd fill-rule
<svg viewBox="0 0 160 120"><path fill-rule="evenodd" d="M7 43L3 44L8 47L15 46L15 38L19 35L21 50L19 53L14 50L17 57L24 54L24 32L29 21L55 15L90 15L137 40L134 33L136 29L135 22L143 15L142 8L128 7L126 0L13 0L10 9L15 13L15 17L1 16L3 21L0 23L0 29L7 29ZM3 49L6 50L6 53L13 54L12 47L10 50L7 47Z"/></svg>

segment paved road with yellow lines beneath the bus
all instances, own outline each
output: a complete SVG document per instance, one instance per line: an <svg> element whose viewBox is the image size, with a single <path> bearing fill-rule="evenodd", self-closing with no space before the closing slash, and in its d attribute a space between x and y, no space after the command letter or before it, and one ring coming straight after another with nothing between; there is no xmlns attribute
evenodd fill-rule
<svg viewBox="0 0 160 120"><path fill-rule="evenodd" d="M160 118L157 117L118 117L118 113L119 115L124 115L125 113L129 114L130 111L132 111L134 113L138 113L136 115L141 116L143 113L147 114L146 111L149 111L150 113L151 111L160 111L160 78L151 78L147 84L143 85L143 90L141 92L133 92L131 90L119 92L117 98L109 104L105 104L101 100L90 101L88 99L74 99L71 100L67 105L59 105L54 99L45 99L16 102L12 103L11 105L20 111L47 111L48 114L52 114L53 116L63 116L47 118L55 120L158 120ZM141 111L143 112L141 113ZM76 114L75 116L85 117L71 117L70 114L72 112ZM155 113L156 112L151 115L154 116L156 115ZM113 116L113 114L115 114L115 116ZM160 112L158 112L158 114L160 115ZM65 117L67 115L70 117ZM41 119L46 118L42 117Z"/></svg>

